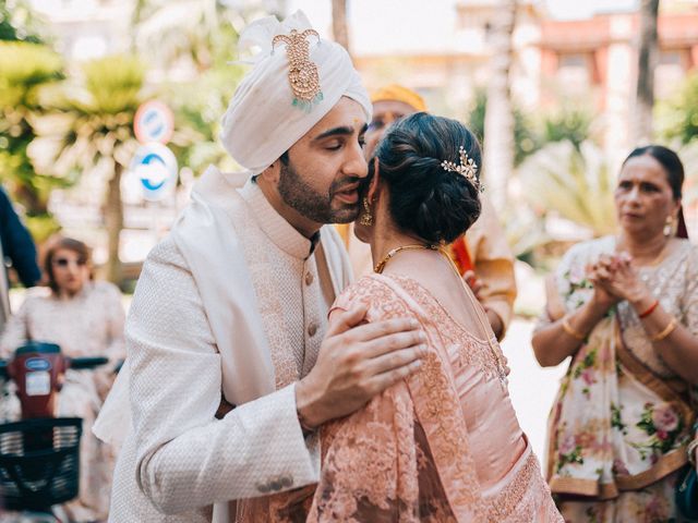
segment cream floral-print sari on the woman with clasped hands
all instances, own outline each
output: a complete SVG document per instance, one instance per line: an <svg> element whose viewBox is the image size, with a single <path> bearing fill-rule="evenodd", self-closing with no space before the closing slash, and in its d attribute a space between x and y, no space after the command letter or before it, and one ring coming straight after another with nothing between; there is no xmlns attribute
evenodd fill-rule
<svg viewBox="0 0 698 523"><path fill-rule="evenodd" d="M567 313L592 296L587 265L614 251L615 239L604 238L566 254L556 290ZM662 306L694 333L697 262L686 241L639 269ZM673 492L695 421L690 392L653 351L629 304L611 309L573 357L549 419L546 477L566 522L677 521Z"/></svg>

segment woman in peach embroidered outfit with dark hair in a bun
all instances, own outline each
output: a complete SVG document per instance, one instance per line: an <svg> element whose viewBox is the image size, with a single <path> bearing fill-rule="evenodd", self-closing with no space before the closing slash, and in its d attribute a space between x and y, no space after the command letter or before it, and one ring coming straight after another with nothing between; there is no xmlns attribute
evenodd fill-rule
<svg viewBox="0 0 698 523"><path fill-rule="evenodd" d="M512 408L486 316L440 247L480 214L479 165L477 139L454 120L417 113L386 134L356 229L376 273L335 308L363 304L368 321L418 319L426 356L411 377L322 428L318 485L253 501L249 521L563 521Z"/></svg>

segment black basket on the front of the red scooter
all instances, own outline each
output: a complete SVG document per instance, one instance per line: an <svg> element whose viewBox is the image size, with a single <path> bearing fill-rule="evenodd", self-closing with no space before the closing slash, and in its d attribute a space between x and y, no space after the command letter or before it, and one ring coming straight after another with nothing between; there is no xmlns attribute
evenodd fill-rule
<svg viewBox="0 0 698 523"><path fill-rule="evenodd" d="M0 496L9 510L40 510L77 496L79 417L0 425Z"/></svg>

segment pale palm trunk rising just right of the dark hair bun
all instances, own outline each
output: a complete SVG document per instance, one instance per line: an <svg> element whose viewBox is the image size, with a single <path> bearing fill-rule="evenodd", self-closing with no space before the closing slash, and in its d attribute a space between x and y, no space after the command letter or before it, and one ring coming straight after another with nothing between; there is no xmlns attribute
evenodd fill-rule
<svg viewBox="0 0 698 523"><path fill-rule="evenodd" d="M495 208L506 206L507 181L514 169L514 111L509 96L509 70L514 59L513 35L516 0L500 0L493 19L484 120L484 178Z"/></svg>

